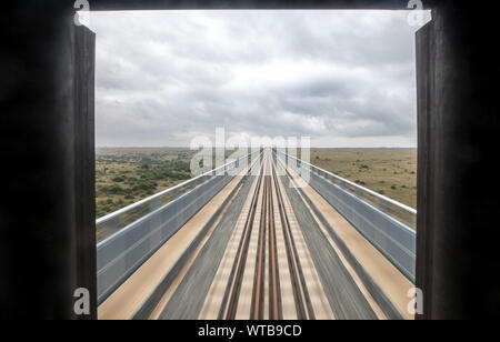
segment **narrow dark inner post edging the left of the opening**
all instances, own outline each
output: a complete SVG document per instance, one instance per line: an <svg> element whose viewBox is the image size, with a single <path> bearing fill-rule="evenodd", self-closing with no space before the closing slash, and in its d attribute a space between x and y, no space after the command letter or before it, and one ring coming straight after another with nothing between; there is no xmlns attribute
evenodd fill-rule
<svg viewBox="0 0 500 342"><path fill-rule="evenodd" d="M77 220L77 286L91 293L97 318L96 260L96 34L86 27L74 28L74 197Z"/></svg>

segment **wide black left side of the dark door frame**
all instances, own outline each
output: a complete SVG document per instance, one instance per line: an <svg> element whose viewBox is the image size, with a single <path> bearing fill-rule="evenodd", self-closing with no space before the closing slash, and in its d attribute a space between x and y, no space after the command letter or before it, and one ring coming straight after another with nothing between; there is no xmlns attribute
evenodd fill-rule
<svg viewBox="0 0 500 342"><path fill-rule="evenodd" d="M73 24L72 1L6 7L0 22L0 145L6 172L0 197L0 318L93 319L91 34ZM86 286L91 312L77 316L73 292Z"/></svg>

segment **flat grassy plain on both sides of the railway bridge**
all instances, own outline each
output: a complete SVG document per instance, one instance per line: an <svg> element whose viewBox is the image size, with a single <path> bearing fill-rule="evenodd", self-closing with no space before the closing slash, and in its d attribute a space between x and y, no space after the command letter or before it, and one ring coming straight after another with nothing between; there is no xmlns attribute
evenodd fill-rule
<svg viewBox="0 0 500 342"><path fill-rule="evenodd" d="M190 161L196 153L184 148L99 148L97 217L192 178ZM311 163L416 208L417 150L311 149Z"/></svg>

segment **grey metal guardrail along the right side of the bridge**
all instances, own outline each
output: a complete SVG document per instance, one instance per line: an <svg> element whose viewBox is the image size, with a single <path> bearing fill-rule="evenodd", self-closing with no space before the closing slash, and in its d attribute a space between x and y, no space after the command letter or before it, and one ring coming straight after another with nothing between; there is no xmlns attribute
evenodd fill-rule
<svg viewBox="0 0 500 342"><path fill-rule="evenodd" d="M417 211L306 161L278 153L371 244L414 283ZM290 162L291 161L291 162Z"/></svg>

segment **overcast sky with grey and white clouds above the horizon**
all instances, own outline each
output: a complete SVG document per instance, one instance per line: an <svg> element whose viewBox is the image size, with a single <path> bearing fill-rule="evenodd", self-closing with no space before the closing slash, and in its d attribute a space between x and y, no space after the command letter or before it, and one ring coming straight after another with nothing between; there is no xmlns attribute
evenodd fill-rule
<svg viewBox="0 0 500 342"><path fill-rule="evenodd" d="M406 11L92 12L97 144L232 134L416 147Z"/></svg>

